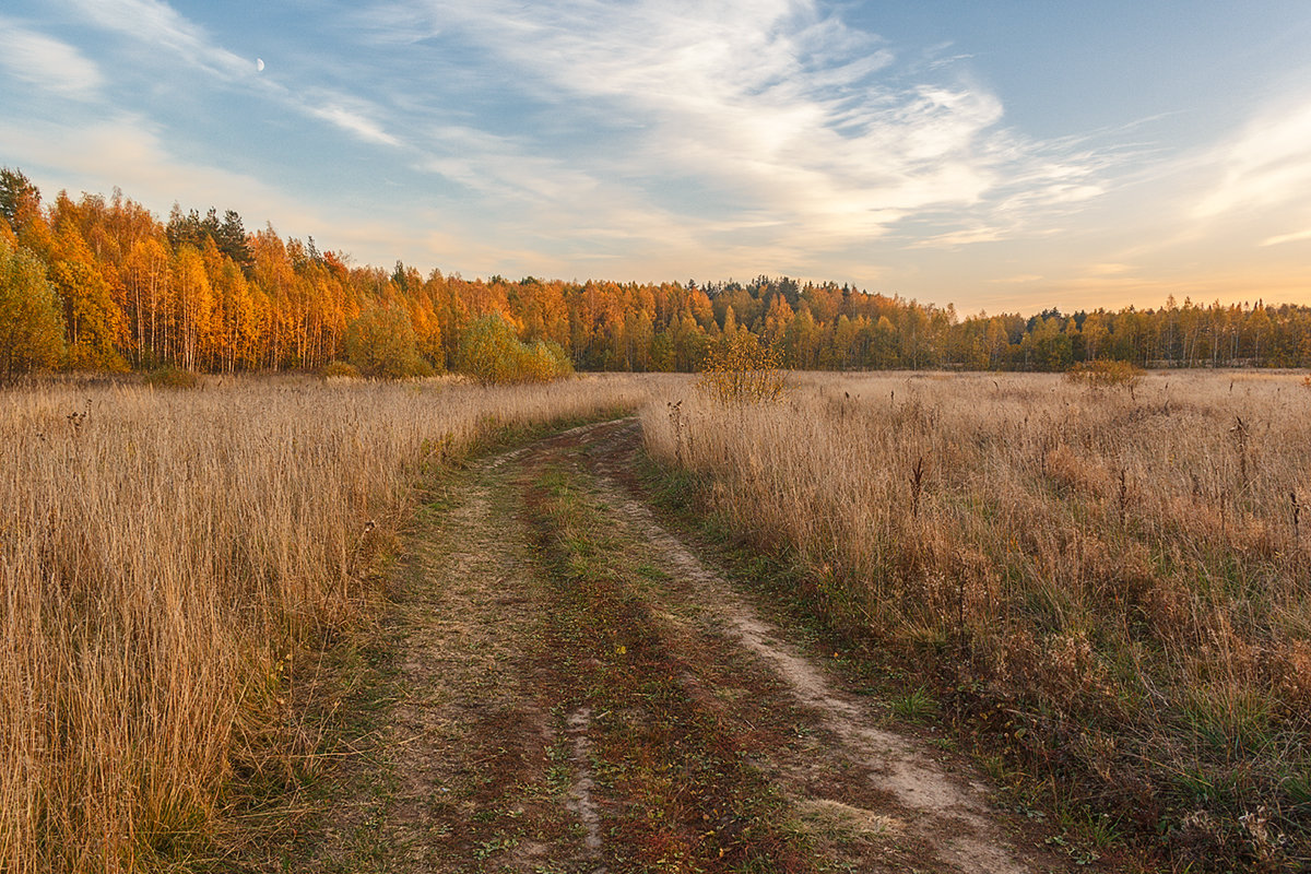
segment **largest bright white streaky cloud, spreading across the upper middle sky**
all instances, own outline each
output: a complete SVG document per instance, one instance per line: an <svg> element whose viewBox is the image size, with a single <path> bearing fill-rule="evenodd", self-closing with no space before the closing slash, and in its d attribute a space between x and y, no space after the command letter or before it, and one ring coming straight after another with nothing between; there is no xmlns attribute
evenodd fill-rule
<svg viewBox="0 0 1311 874"><path fill-rule="evenodd" d="M515 71L577 119L590 140L577 165L635 197L683 186L711 212L700 220L742 212L758 228L767 214L797 245L843 246L944 208L1009 210L991 224L1008 233L1103 190L1097 161L1007 130L996 96L964 77L891 84L893 50L812 0L414 0L366 20L391 45L458 39ZM459 162L479 172L477 156Z"/></svg>

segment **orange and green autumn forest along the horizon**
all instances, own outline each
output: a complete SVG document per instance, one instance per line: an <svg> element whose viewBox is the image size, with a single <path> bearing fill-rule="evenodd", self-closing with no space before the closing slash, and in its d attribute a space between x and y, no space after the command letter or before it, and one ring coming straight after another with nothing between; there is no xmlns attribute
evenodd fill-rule
<svg viewBox="0 0 1311 874"><path fill-rule="evenodd" d="M499 313L526 342L585 371L688 371L751 332L798 370L1062 371L1105 358L1143 367L1308 367L1311 307L1200 305L960 317L847 284L510 280L353 266L313 238L174 206L166 223L125 198L41 193L0 170L0 376L26 370L317 370L359 337L458 366L464 333ZM372 334L362 326L374 326ZM351 343L351 337L357 342ZM366 355L367 358L367 355Z"/></svg>

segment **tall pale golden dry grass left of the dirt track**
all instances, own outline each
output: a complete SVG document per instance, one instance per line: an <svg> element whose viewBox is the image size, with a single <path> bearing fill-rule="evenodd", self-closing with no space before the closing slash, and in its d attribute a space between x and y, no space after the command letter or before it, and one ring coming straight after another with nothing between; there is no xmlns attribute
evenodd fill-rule
<svg viewBox="0 0 1311 874"><path fill-rule="evenodd" d="M482 389L210 380L0 393L0 870L148 867L294 717L425 465L633 406L632 377Z"/></svg>

